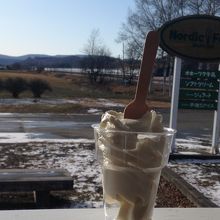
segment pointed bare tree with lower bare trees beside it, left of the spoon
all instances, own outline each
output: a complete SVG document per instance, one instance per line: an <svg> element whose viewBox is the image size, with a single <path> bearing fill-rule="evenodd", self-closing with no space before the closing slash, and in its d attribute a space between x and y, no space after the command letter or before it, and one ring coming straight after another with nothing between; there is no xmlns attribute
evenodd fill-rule
<svg viewBox="0 0 220 220"><path fill-rule="evenodd" d="M114 77L123 83L133 83L140 60L132 56L111 57L110 49L100 40L98 29L93 29L83 51L86 57L81 62L81 68L88 74L91 83L101 84Z"/></svg>

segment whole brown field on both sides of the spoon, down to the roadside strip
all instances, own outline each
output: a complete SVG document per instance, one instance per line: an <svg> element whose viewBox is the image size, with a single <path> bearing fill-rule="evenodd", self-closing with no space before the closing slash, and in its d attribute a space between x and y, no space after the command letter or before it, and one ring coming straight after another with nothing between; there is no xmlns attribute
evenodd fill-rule
<svg viewBox="0 0 220 220"><path fill-rule="evenodd" d="M21 77L26 80L42 79L47 81L52 92L46 91L43 99L85 99L77 104L65 104L52 106L46 104L33 103L32 105L2 105L1 112L54 112L54 113L74 113L86 112L89 107L98 107L96 100L99 98L109 99L113 102L127 104L135 94L136 85L123 85L119 82L105 82L103 84L91 84L87 75L65 74L55 72L22 72L22 71L1 71L0 80L6 78ZM0 91L1 98L11 98L12 95L3 90ZM20 99L32 98L30 91L20 94ZM89 101L88 101L89 100ZM93 101L92 101L93 100ZM88 104L86 103L88 102ZM170 98L161 95L160 86L148 96L149 105L156 108L169 108Z"/></svg>

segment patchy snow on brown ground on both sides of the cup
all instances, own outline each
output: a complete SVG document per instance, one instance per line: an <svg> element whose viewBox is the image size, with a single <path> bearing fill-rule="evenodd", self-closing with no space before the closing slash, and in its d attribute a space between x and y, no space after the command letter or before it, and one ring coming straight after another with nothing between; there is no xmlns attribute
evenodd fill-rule
<svg viewBox="0 0 220 220"><path fill-rule="evenodd" d="M14 135L8 137L8 143L1 143L0 138L1 169L65 168L74 178L74 191L62 195L68 201L65 207L102 207L101 172L93 139L29 139L24 134ZM220 206L219 159L176 160L168 166Z"/></svg>

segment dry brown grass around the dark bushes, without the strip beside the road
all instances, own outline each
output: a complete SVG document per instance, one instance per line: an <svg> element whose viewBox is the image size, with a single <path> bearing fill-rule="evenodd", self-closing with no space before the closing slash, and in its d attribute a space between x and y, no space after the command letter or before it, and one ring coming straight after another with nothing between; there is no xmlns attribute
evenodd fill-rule
<svg viewBox="0 0 220 220"><path fill-rule="evenodd" d="M22 72L22 71L1 71L0 80L8 77L21 77L26 80L42 79L47 81L52 92L45 92L42 98L107 98L122 100L122 103L128 103L135 94L136 85L122 85L116 82L108 82L105 84L91 84L87 75L83 74L65 74L51 72ZM11 98L11 94L7 91L0 92L0 98ZM30 91L23 92L20 98L32 98ZM150 104L162 107L169 107L170 98L162 96L161 93L149 95ZM160 103L162 102L162 103Z"/></svg>

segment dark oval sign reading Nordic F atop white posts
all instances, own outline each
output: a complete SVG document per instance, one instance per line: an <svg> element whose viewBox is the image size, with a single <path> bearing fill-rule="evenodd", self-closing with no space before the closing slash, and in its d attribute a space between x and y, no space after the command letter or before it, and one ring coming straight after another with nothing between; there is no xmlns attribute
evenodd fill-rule
<svg viewBox="0 0 220 220"><path fill-rule="evenodd" d="M184 16L160 28L160 46L169 54L201 61L220 59L220 17Z"/></svg>

